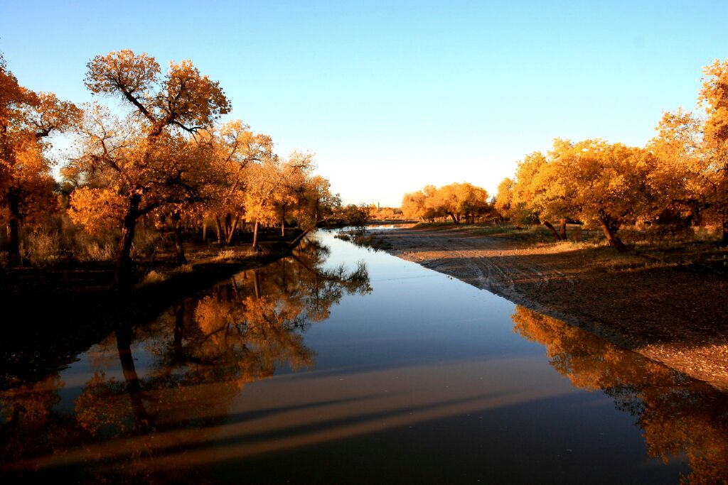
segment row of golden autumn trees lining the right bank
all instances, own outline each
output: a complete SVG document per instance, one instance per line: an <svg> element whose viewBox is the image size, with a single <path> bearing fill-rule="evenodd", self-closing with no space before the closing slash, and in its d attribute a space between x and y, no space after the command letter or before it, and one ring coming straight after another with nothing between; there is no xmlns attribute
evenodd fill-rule
<svg viewBox="0 0 728 485"><path fill-rule="evenodd" d="M728 245L728 60L708 65L698 103L703 111L664 113L644 147L604 140L556 139L547 153L518 162L488 201L482 188L454 183L403 197L405 217L434 221L508 220L543 224L566 239L566 223L600 228L612 246L625 225L687 231L719 228ZM555 225L558 228L554 227Z"/></svg>

